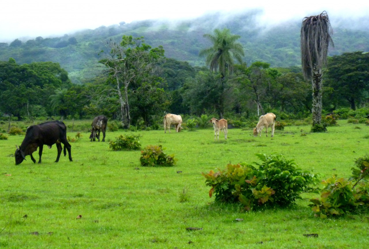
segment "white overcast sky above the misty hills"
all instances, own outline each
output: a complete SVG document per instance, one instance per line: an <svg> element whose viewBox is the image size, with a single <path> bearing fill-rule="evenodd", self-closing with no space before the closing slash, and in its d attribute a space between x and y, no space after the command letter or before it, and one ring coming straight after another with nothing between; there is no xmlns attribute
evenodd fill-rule
<svg viewBox="0 0 369 249"><path fill-rule="evenodd" d="M179 20L214 11L229 14L255 8L263 9L261 21L269 23L291 18L302 21L324 10L331 22L369 16L369 1L365 0L2 0L0 42L62 36L122 21Z"/></svg>

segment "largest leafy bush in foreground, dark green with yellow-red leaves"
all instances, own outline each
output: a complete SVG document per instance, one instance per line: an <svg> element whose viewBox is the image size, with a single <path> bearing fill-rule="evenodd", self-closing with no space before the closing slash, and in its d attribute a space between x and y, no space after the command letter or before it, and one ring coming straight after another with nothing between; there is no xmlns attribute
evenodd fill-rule
<svg viewBox="0 0 369 249"><path fill-rule="evenodd" d="M215 201L240 202L246 210L257 207L287 207L304 192L315 192L317 175L302 171L283 155L256 154L262 161L228 164L227 169L203 173L209 196Z"/></svg>

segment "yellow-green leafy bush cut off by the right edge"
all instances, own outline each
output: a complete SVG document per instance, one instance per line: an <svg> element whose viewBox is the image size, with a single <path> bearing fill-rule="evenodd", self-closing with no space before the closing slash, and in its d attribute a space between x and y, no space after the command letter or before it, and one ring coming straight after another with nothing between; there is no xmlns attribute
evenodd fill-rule
<svg viewBox="0 0 369 249"><path fill-rule="evenodd" d="M368 211L369 208L369 155L356 159L349 179L337 175L324 180L320 199L311 199L309 206L315 216L327 218Z"/></svg>

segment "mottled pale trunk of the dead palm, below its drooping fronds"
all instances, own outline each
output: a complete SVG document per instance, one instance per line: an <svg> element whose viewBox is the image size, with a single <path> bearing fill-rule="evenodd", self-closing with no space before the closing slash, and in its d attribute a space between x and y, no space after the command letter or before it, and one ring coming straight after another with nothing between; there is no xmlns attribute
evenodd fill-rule
<svg viewBox="0 0 369 249"><path fill-rule="evenodd" d="M314 65L314 76L312 79L313 85L313 108L311 112L313 113L313 126L315 124L320 124L322 120L322 106L323 106L323 84L322 84L322 71L317 69Z"/></svg>

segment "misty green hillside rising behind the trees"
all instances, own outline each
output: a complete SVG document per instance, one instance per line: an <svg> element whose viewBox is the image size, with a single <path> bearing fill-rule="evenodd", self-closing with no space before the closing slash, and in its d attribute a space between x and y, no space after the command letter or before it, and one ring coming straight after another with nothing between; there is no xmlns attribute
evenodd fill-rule
<svg viewBox="0 0 369 249"><path fill-rule="evenodd" d="M73 83L83 83L101 71L98 63L106 41L120 41L123 35L144 36L152 47L162 45L165 55L193 66L204 66L199 51L209 46L203 34L215 28L228 28L232 34L241 36L239 41L245 49L244 61L270 63L271 67L300 65L301 20L289 21L261 28L256 22L258 11L250 11L225 18L221 14L204 15L175 24L156 20L121 22L109 27L101 26L57 38L37 37L34 40L15 40L10 44L0 43L0 60L13 57L19 64L31 62L57 62L69 73ZM369 51L369 29L347 28L349 25L333 27L334 48L329 55L343 52ZM100 55L99 55L100 54Z"/></svg>

